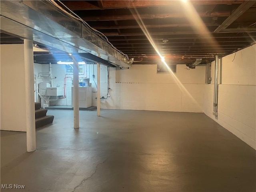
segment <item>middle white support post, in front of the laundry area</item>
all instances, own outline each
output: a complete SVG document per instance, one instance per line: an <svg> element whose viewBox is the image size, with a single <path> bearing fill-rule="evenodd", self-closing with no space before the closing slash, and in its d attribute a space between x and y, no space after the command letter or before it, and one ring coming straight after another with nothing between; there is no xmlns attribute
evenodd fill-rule
<svg viewBox="0 0 256 192"><path fill-rule="evenodd" d="M79 128L79 65L73 56L73 105L74 105L74 128Z"/></svg>

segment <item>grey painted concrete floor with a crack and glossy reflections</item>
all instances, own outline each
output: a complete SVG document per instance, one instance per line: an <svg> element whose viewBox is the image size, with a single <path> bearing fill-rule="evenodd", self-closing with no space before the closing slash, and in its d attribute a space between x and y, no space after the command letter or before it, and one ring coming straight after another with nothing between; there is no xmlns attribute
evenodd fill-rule
<svg viewBox="0 0 256 192"><path fill-rule="evenodd" d="M49 110L54 123L1 131L1 184L31 192L255 192L256 151L205 114Z"/></svg>

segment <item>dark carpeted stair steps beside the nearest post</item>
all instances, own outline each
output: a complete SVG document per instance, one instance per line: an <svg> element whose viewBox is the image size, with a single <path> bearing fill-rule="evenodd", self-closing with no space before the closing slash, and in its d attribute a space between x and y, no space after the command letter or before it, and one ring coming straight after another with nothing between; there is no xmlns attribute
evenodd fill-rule
<svg viewBox="0 0 256 192"><path fill-rule="evenodd" d="M47 109L41 109L41 103L35 103L36 128L43 127L53 122L53 115L46 115Z"/></svg>

